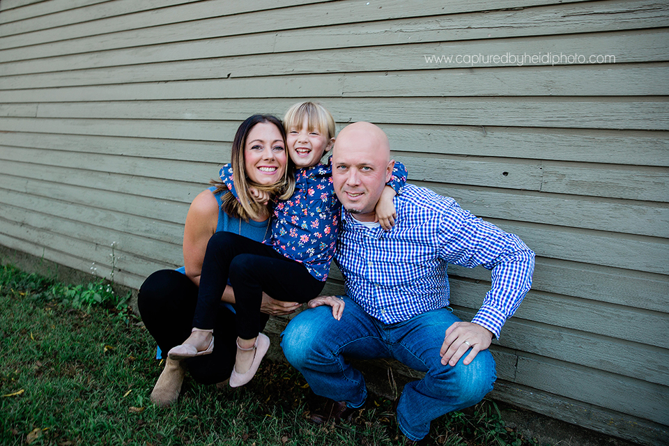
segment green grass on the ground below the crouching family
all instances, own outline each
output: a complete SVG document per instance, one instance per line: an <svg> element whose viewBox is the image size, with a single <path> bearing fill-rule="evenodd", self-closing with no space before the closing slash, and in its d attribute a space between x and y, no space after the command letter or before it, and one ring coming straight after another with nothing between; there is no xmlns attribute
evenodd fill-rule
<svg viewBox="0 0 669 446"><path fill-rule="evenodd" d="M148 397L162 370L125 298L98 280L70 286L0 267L1 445L398 445L391 401L343 426L314 426L302 376L265 361L241 390L186 378L178 403ZM432 423L438 445L536 445L484 401Z"/></svg>

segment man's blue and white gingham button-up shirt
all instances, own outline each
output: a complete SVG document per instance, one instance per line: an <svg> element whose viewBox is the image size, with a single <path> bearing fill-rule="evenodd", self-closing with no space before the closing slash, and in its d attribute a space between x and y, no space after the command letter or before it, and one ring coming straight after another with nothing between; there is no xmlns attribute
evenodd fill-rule
<svg viewBox="0 0 669 446"><path fill-rule="evenodd" d="M499 337L530 290L535 254L523 241L463 210L452 198L407 184L394 198L390 231L342 210L337 263L346 294L383 323L449 303L447 263L492 270L492 287L472 322Z"/></svg>

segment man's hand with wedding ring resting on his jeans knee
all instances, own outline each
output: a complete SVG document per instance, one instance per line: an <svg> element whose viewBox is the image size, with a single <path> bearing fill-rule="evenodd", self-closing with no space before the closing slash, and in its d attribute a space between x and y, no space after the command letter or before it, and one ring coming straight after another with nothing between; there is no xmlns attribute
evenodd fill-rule
<svg viewBox="0 0 669 446"><path fill-rule="evenodd" d="M441 363L449 364L453 367L458 363L462 355L470 353L462 362L468 365L474 360L479 351L485 350L490 346L493 340L493 333L483 328L482 325L471 322L456 322L446 330L444 344L441 346L439 354Z"/></svg>

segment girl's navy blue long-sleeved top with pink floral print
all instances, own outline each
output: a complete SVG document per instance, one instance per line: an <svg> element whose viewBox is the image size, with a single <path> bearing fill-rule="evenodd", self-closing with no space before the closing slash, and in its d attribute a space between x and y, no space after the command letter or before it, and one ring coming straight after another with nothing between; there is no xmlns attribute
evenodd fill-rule
<svg viewBox="0 0 669 446"><path fill-rule="evenodd" d="M406 167L395 162L387 183L400 194L406 183ZM231 164L220 171L221 180L238 197ZM341 203L332 183L332 157L295 171L295 192L290 199L275 202L270 245L283 256L304 263L321 281L328 279L339 232ZM267 242L263 242L267 243Z"/></svg>

